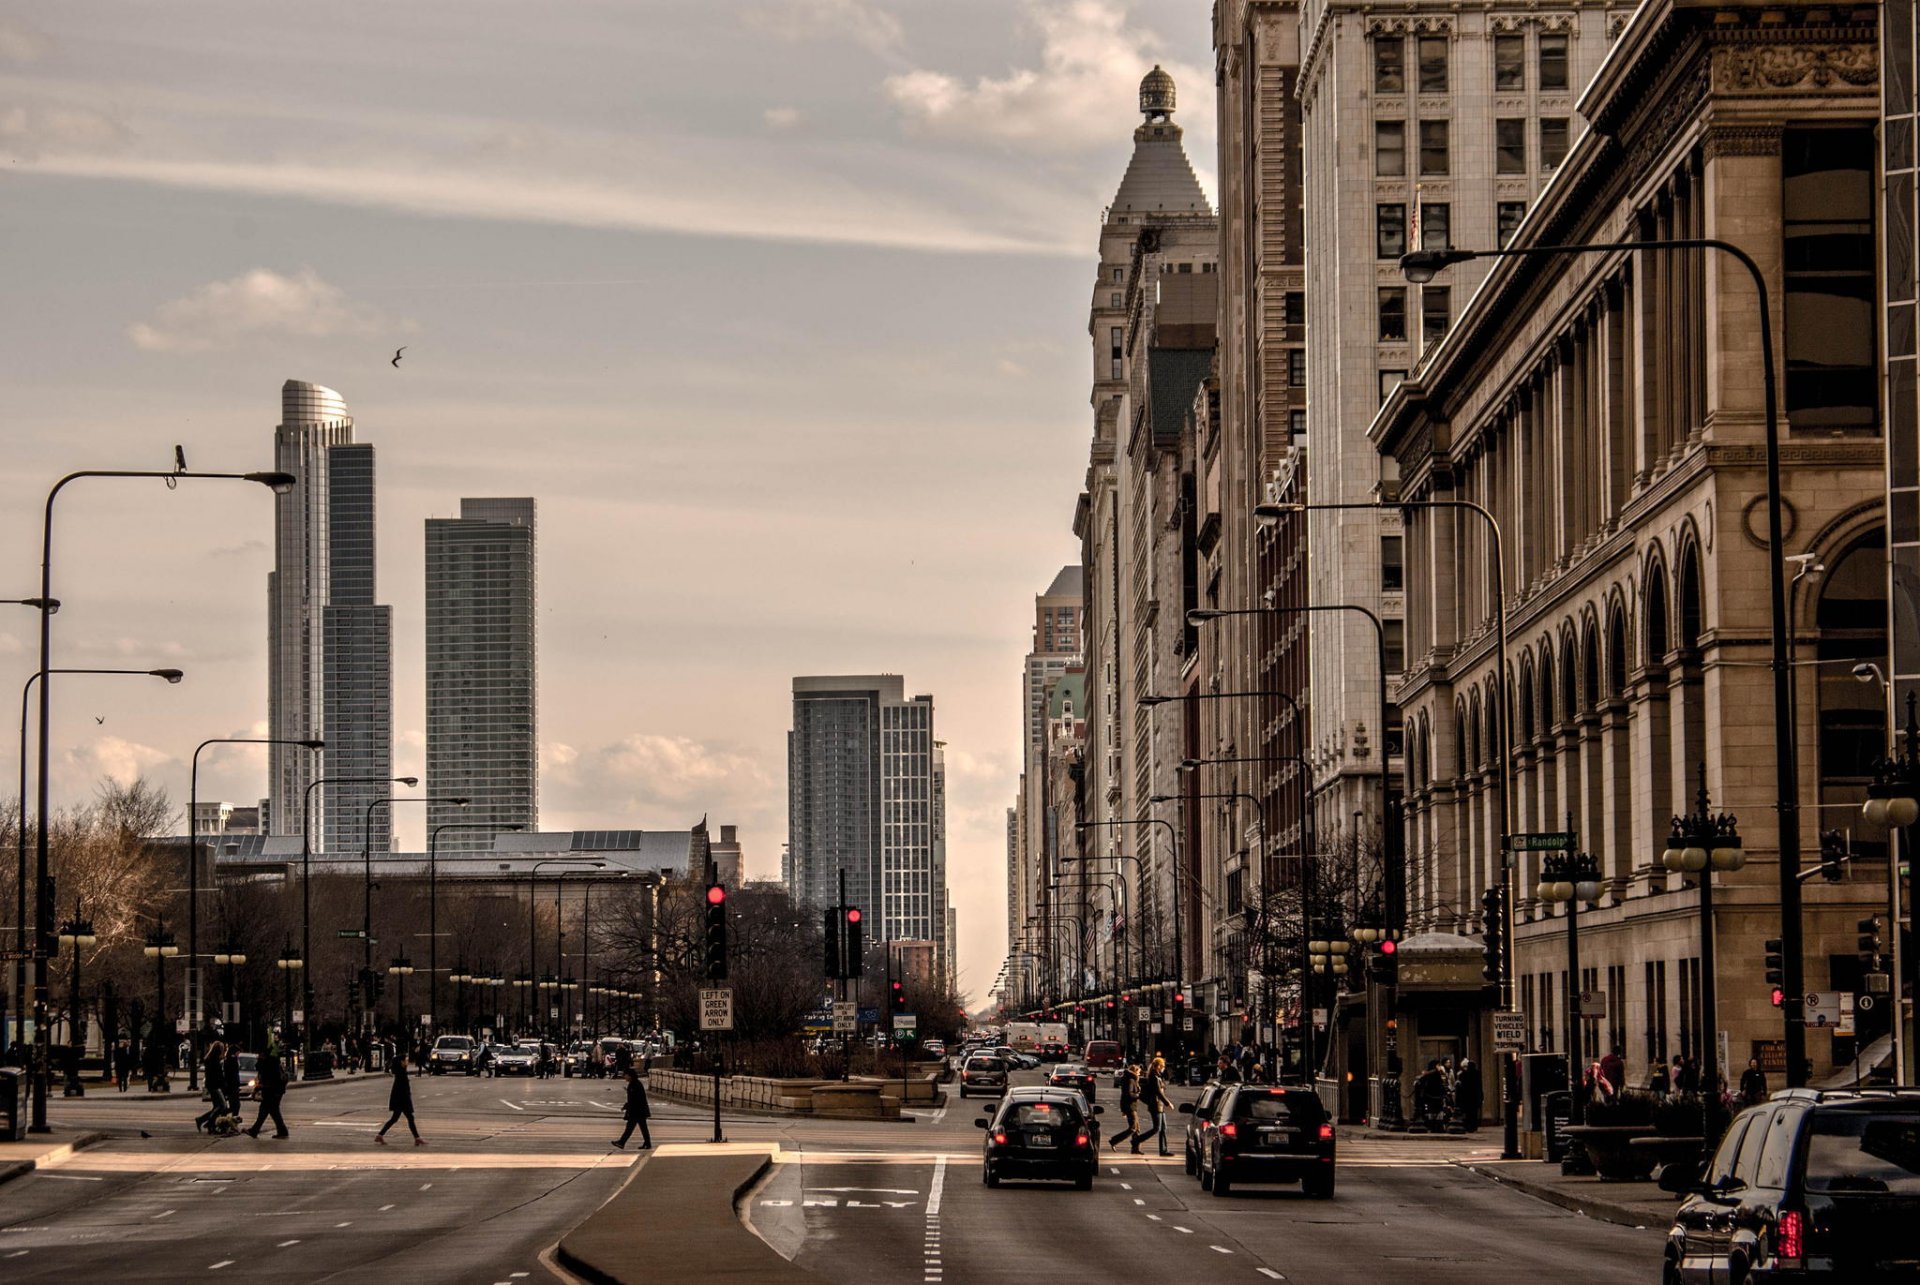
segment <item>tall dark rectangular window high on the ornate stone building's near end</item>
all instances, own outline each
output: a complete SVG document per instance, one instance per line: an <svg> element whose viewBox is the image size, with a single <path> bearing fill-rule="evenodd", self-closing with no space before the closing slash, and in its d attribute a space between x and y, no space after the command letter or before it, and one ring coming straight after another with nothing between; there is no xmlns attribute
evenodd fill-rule
<svg viewBox="0 0 1920 1285"><path fill-rule="evenodd" d="M1864 129L1789 129L1780 146L1788 419L1872 428L1874 140Z"/></svg>

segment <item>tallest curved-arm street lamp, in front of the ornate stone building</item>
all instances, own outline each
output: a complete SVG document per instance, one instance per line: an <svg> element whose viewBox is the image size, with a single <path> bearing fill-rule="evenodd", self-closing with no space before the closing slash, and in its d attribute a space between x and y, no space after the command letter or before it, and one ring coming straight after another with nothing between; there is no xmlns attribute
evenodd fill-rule
<svg viewBox="0 0 1920 1285"><path fill-rule="evenodd" d="M1507 259L1536 254L1632 254L1636 250L1718 250L1732 255L1753 280L1753 292L1761 309L1761 388L1766 411L1766 601L1768 632L1772 636L1768 665L1774 670L1774 807L1780 814L1780 972L1784 991L1780 1020L1786 1035L1788 1087L1797 1089L1807 1079L1807 1014L1803 1010L1807 991L1803 958L1805 926L1801 924L1799 885L1799 738L1793 726L1793 674L1791 657L1788 655L1791 640L1788 634L1786 532L1780 503L1780 382L1774 375L1774 315L1766 296L1766 275L1761 273L1761 265L1753 261L1753 255L1734 242L1716 236L1578 246L1515 246L1511 250L1415 250L1400 257L1400 271L1405 273L1407 280L1421 284L1432 280L1434 273L1453 263L1467 263L1469 259ZM1505 684L1505 676L1501 676L1501 684Z"/></svg>

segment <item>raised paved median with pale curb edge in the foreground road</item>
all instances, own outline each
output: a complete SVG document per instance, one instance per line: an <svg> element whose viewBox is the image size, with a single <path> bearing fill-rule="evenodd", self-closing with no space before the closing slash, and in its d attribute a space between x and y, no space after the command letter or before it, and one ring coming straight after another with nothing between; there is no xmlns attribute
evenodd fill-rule
<svg viewBox="0 0 1920 1285"><path fill-rule="evenodd" d="M593 1285L755 1281L818 1285L739 1220L735 1204L774 1164L766 1145L668 1145L555 1247Z"/></svg>

